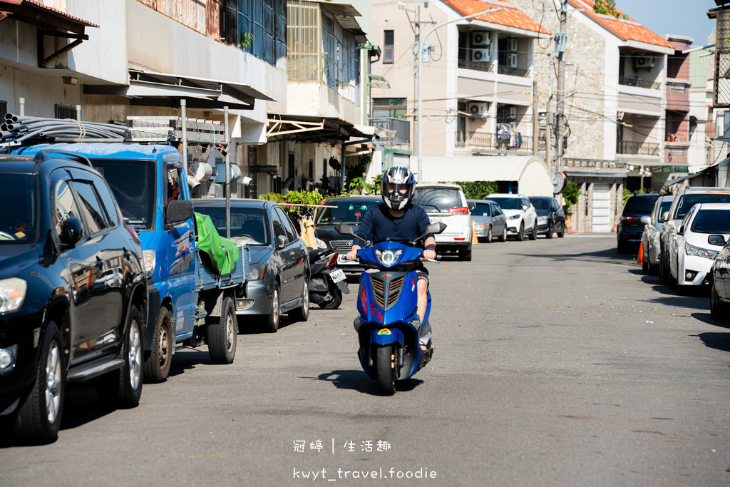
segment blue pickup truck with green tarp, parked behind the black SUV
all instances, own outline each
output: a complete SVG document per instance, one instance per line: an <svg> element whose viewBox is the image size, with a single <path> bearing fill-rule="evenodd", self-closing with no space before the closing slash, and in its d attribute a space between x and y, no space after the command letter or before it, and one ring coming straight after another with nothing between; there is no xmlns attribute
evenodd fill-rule
<svg viewBox="0 0 730 487"><path fill-rule="evenodd" d="M32 155L48 147L88 158L112 188L125 221L139 231L150 292L145 380L166 379L176 344L194 348L206 342L212 362L234 361L235 294L245 285L248 248L238 247L237 263L226 275L199 251L193 203L177 149L92 142L32 145L14 152Z"/></svg>

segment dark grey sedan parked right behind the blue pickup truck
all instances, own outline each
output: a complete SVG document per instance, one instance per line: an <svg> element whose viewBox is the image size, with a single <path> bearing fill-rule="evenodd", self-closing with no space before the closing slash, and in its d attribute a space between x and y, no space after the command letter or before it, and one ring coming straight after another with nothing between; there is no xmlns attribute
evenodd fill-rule
<svg viewBox="0 0 730 487"><path fill-rule="evenodd" d="M194 199L193 204L196 212L210 216L219 234L226 234L225 199ZM231 199L231 239L247 245L251 256L247 283L236 294L237 315L258 315L272 333L283 312L307 321L308 250L282 207L263 199Z"/></svg>

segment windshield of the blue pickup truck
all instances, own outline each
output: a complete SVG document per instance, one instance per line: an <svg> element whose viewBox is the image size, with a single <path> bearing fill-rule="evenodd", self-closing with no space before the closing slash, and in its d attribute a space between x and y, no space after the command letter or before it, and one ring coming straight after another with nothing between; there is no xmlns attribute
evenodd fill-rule
<svg viewBox="0 0 730 487"><path fill-rule="evenodd" d="M109 183L122 215L138 230L155 227L155 164L150 161L95 160L94 169Z"/></svg>

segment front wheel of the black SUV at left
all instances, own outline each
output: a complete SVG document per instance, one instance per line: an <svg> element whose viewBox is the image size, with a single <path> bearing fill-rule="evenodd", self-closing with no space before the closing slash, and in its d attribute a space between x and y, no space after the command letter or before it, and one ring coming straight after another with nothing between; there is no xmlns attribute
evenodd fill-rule
<svg viewBox="0 0 730 487"><path fill-rule="evenodd" d="M33 389L15 418L15 435L20 442L45 444L58 439L66 390L62 343L61 331L51 321L43 336Z"/></svg>

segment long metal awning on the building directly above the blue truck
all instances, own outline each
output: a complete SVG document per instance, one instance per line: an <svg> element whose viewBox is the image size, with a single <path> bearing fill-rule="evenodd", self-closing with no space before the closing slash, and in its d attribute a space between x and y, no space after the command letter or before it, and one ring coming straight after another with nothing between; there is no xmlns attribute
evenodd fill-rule
<svg viewBox="0 0 730 487"><path fill-rule="evenodd" d="M131 104L147 107L179 107L185 99L190 108L253 110L255 100L276 101L244 83L134 69L129 85L84 85L84 93L126 96Z"/></svg>

